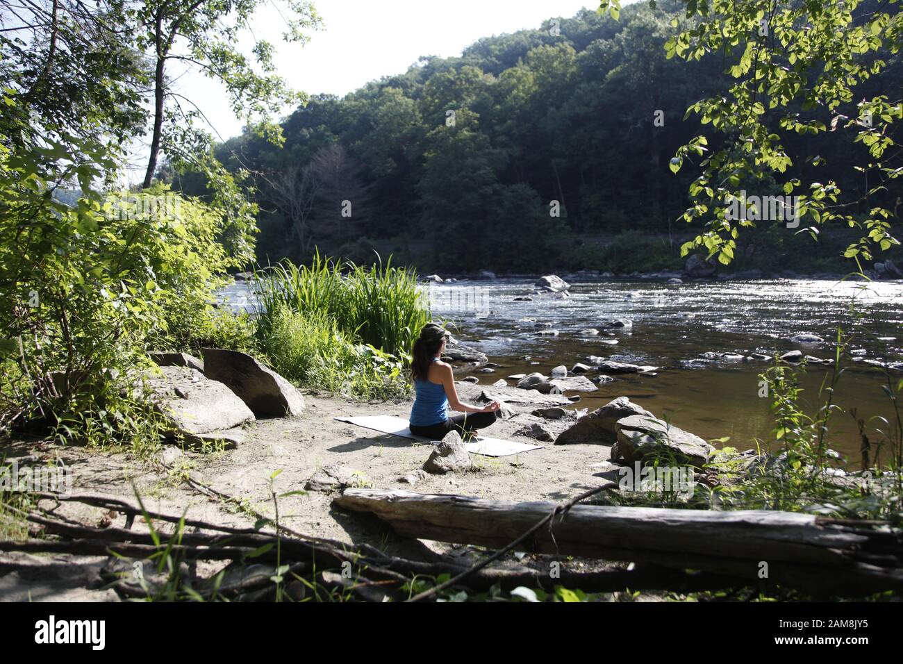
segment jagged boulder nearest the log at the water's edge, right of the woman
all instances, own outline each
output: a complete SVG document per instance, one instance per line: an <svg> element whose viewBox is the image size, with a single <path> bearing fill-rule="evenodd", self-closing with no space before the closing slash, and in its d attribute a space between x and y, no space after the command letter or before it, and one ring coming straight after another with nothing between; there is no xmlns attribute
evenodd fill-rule
<svg viewBox="0 0 903 664"><path fill-rule="evenodd" d="M645 415L633 415L615 423L618 442L611 448L611 459L628 463L655 457L674 458L676 463L690 463L702 468L715 448L698 435L669 426Z"/></svg>

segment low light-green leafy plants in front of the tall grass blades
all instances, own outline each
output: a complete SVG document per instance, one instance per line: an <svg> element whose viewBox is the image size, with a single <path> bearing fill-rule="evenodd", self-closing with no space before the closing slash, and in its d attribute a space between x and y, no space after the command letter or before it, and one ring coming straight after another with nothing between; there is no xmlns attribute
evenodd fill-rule
<svg viewBox="0 0 903 664"><path fill-rule="evenodd" d="M354 397L396 397L410 389L402 362L340 331L322 312L280 305L262 345L274 369L297 383Z"/></svg>

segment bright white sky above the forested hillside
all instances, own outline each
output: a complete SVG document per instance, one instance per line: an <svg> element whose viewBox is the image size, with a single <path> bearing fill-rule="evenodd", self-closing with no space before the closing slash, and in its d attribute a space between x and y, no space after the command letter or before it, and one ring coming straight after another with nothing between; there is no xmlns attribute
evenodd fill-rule
<svg viewBox="0 0 903 664"><path fill-rule="evenodd" d="M422 55L449 57L480 37L537 28L554 16L573 16L593 0L313 0L323 27L305 46L286 44L284 21L273 5L262 8L251 29L276 45L276 67L293 89L345 95L369 80L403 73ZM243 47L250 44L242 44ZM222 138L241 123L221 87L193 72L178 81Z"/></svg>

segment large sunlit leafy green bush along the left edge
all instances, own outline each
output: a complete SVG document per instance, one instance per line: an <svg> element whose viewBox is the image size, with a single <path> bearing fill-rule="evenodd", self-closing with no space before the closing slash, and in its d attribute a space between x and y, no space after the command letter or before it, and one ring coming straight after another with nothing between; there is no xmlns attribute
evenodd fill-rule
<svg viewBox="0 0 903 664"><path fill-rule="evenodd" d="M115 166L103 147L20 129L14 144L0 136L0 359L16 369L0 422L144 439L155 419L131 387L148 346L191 338L235 264L218 241L226 215L159 185L98 192L100 169ZM60 183L76 180L62 201Z"/></svg>

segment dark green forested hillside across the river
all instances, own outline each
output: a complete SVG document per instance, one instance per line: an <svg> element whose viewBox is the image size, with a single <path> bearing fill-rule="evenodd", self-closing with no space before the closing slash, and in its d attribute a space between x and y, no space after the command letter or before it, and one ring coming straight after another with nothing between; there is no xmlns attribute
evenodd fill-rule
<svg viewBox="0 0 903 664"><path fill-rule="evenodd" d="M731 85L720 58L667 57L677 22L690 23L683 7L630 5L617 21L584 10L487 37L344 98L312 96L284 119L282 146L250 130L219 145L220 161L256 184L258 260L320 249L361 261L376 249L430 270L679 267L681 242L698 232L679 219L695 173L675 175L669 160L701 131L687 108ZM899 55L885 55L882 87L867 80L858 94L903 87ZM831 121L826 109L806 115ZM870 186L851 168L868 161L854 136L787 144L791 173L837 182L859 201L853 211L868 205ZM204 192L199 177L168 174L177 188ZM746 184L779 193L773 181ZM834 227L813 243L781 223L758 226L732 268L841 270L854 235Z"/></svg>

